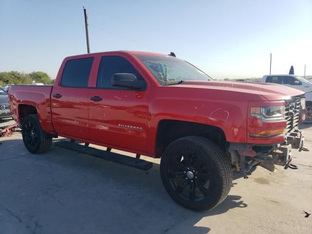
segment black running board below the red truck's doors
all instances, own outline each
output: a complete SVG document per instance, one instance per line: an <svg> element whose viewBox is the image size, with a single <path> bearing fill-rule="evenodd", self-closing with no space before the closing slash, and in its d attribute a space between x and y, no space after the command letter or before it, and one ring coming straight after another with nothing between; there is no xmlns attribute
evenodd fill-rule
<svg viewBox="0 0 312 234"><path fill-rule="evenodd" d="M99 150L99 149L85 146L85 145L79 145L76 143L72 143L69 140L61 140L61 141L55 142L55 145L61 148L73 150L73 151L83 153L86 155L91 155L91 156L102 158L108 161L117 162L119 164L126 165L129 167L134 167L143 171L147 171L153 167L152 162L148 162L143 159L120 155L120 154L109 152L109 151L103 151L103 150Z"/></svg>

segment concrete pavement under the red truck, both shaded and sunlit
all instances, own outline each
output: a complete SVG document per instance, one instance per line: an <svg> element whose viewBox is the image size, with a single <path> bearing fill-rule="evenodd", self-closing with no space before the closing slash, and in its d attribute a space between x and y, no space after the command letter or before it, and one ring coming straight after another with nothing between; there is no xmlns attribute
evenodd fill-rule
<svg viewBox="0 0 312 234"><path fill-rule="evenodd" d="M0 120L0 126L11 122ZM302 128L305 147L312 150L312 126ZM159 159L143 157L154 162L153 169L144 172L54 145L47 153L32 155L20 134L1 137L0 143L0 234L310 234L312 230L312 215L303 214L312 213L312 151L294 152L298 170L278 167L271 173L257 167L249 179L234 173L233 188L222 204L212 211L192 212L167 195Z"/></svg>

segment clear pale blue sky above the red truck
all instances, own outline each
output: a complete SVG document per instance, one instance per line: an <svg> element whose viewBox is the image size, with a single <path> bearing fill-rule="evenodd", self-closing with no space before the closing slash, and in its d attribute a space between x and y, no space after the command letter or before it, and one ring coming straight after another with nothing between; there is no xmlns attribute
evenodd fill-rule
<svg viewBox="0 0 312 234"><path fill-rule="evenodd" d="M67 56L176 53L212 78L312 75L312 0L0 0L0 72L56 78Z"/></svg>

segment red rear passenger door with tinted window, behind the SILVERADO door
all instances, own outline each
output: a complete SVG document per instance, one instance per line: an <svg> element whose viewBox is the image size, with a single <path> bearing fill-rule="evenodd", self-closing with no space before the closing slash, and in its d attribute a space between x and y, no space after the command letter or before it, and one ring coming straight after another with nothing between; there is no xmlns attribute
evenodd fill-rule
<svg viewBox="0 0 312 234"><path fill-rule="evenodd" d="M89 77L95 58L69 59L65 61L61 76L51 94L52 122L60 135L90 139L89 134Z"/></svg>

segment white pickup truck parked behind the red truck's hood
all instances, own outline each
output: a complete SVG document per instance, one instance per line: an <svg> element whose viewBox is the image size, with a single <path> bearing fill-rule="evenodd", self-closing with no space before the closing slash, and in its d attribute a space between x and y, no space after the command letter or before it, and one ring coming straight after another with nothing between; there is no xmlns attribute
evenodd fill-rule
<svg viewBox="0 0 312 234"><path fill-rule="evenodd" d="M312 82L296 75L265 75L261 82L275 83L302 90L306 93L306 120L305 123L312 123Z"/></svg>

